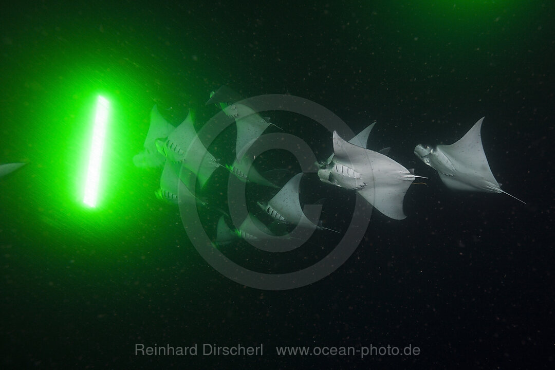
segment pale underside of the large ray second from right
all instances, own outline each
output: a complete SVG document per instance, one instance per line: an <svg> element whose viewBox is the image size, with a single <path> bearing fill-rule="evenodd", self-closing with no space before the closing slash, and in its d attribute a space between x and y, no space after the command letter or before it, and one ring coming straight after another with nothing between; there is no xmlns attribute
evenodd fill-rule
<svg viewBox="0 0 555 370"><path fill-rule="evenodd" d="M378 211L392 219L406 218L403 199L415 175L388 156L348 143L335 131L334 153L341 172L334 165L332 176L341 187L355 189L365 184L358 192Z"/></svg>

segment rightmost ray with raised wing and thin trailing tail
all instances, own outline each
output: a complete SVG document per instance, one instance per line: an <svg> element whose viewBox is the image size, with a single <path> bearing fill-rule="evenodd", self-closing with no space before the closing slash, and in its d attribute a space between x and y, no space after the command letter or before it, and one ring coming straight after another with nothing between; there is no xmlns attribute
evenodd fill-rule
<svg viewBox="0 0 555 370"><path fill-rule="evenodd" d="M437 171L441 181L449 189L502 192L523 202L501 190L501 186L499 186L491 172L480 134L484 118L478 120L465 136L455 144L437 145L435 148L418 144L415 148L415 154L425 164Z"/></svg>

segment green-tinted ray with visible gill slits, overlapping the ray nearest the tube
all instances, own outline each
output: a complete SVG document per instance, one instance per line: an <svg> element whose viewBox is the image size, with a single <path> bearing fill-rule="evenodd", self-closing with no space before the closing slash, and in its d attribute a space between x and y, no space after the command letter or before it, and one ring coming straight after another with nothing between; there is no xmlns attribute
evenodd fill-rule
<svg viewBox="0 0 555 370"><path fill-rule="evenodd" d="M175 130L171 131L167 140L158 141L158 150L168 160L182 163L185 168L195 172L201 187L219 166L214 156L206 150L198 138L190 113Z"/></svg>

